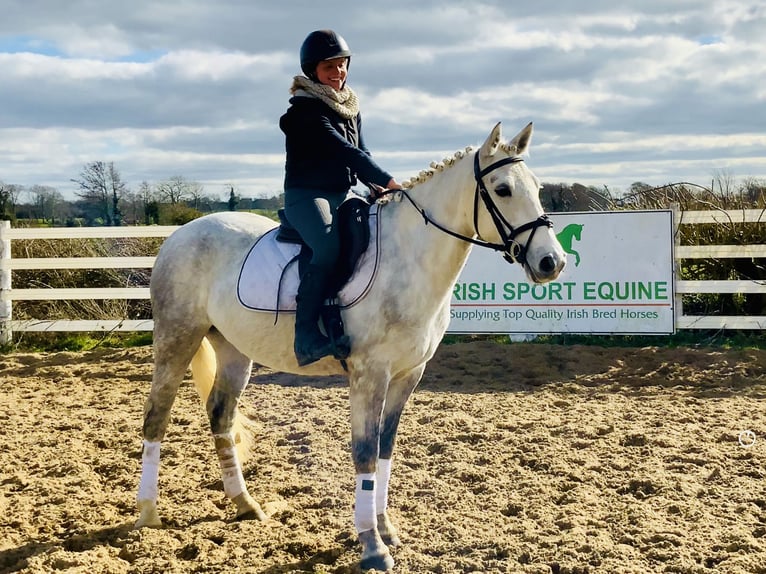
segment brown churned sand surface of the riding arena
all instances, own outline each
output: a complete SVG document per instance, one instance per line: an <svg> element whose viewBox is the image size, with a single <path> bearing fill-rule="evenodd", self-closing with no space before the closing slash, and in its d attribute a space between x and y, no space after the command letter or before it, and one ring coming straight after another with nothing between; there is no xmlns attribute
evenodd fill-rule
<svg viewBox="0 0 766 574"><path fill-rule="evenodd" d="M151 350L0 357L0 572L358 571L348 393L254 369L232 522L185 382L132 529ZM396 572L766 573L766 352L442 346L405 410ZM751 430L755 444L738 436Z"/></svg>

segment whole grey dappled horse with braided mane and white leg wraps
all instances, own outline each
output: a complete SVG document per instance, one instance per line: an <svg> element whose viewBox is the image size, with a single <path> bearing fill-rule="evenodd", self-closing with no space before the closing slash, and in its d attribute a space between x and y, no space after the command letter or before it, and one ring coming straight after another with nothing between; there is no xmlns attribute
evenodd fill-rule
<svg viewBox="0 0 766 574"><path fill-rule="evenodd" d="M352 347L347 375L354 524L363 569L393 567L387 545L400 541L386 504L399 418L447 329L452 288L473 245L500 251L537 283L556 279L564 267L564 252L538 199L540 183L521 158L531 136L529 124L504 141L498 124L478 150L432 164L396 194L400 201L381 206L375 281L363 300L343 311ZM344 374L331 357L298 367L294 315L280 314L275 323L273 313L238 302L244 257L275 225L250 213L213 214L179 228L160 250L151 278L155 370L144 411L137 527L161 525L160 441L190 364L210 419L224 491L240 519L266 519L241 469L246 450L237 401L253 361L309 376Z"/></svg>

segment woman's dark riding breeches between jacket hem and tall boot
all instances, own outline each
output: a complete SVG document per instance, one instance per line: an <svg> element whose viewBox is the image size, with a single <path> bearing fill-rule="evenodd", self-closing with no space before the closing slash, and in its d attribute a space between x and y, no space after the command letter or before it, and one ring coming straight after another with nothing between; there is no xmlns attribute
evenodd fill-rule
<svg viewBox="0 0 766 574"><path fill-rule="evenodd" d="M311 248L311 264L331 271L340 255L340 232L336 217L346 192L316 189L285 190L285 215Z"/></svg>

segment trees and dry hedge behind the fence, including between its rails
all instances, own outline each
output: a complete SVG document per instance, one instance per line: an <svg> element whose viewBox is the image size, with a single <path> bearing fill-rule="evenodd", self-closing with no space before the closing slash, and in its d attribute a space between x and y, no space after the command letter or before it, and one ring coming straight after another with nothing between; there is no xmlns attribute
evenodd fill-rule
<svg viewBox="0 0 766 574"><path fill-rule="evenodd" d="M708 187L690 183L675 183L660 187L637 183L628 193L615 198L606 188L597 189L582 185L545 184L541 190L541 202L547 211L594 211L605 209L667 209L677 205L683 211L690 210L737 210L762 209L763 219L755 223L681 225L682 245L751 245L762 244L766 234L766 185L758 180L745 184ZM161 201L161 197L148 202L132 204L126 196L120 198L117 213L119 224L158 223L176 225L204 213L226 210L259 210L273 215L282 206L283 195L268 199L237 197L230 189L229 201L208 200L204 195L197 198L176 198L175 203ZM17 204L12 211L9 205L6 217L16 219L21 225L104 225L93 205L83 202L62 202L60 210L40 211L40 206ZM57 208L58 209L58 208ZM67 212L66 209L71 209ZM78 211L83 210L83 211ZM79 214L79 215L78 215ZM112 213L112 217L114 213ZM43 223L44 222L44 223ZM116 220L112 219L112 224ZM162 244L158 238L128 239L63 239L63 240L14 240L12 256L16 257L114 257L156 255ZM749 280L766 282L766 260L743 257L733 259L685 259L679 269L679 278L689 280ZM148 269L50 269L14 271L16 288L46 287L124 287L145 286L149 283ZM691 315L766 315L766 294L761 293L715 293L684 295L684 311ZM148 301L19 301L14 305L14 317L32 319L146 319L151 317Z"/></svg>

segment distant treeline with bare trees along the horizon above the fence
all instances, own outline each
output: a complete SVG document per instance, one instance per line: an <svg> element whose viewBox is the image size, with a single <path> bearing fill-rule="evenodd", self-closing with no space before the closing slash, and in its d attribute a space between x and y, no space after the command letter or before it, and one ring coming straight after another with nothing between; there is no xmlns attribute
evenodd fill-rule
<svg viewBox="0 0 766 574"><path fill-rule="evenodd" d="M260 211L274 216L284 205L284 193L272 197L241 197L233 185L211 195L198 182L176 175L131 189L113 163L85 164L77 178L77 199L69 201L53 187L24 187L0 180L0 219L17 225L101 226L183 225L217 211ZM222 199L224 196L225 199ZM727 172L717 172L710 186L671 183L651 186L635 182L625 191L578 183L545 183L540 201L548 212L599 211L609 209L662 209L678 205L682 210L758 208L766 204L766 181L746 178L737 182Z"/></svg>

